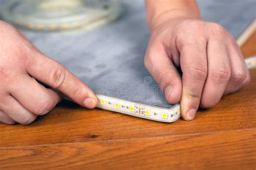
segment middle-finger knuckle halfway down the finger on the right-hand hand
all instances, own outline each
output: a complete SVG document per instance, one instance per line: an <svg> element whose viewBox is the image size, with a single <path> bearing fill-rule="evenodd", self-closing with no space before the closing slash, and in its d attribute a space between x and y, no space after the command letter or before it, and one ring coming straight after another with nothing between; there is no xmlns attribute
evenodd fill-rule
<svg viewBox="0 0 256 170"><path fill-rule="evenodd" d="M217 68L213 73L212 73L212 79L215 82L221 82L225 83L228 80L230 80L231 77L231 70L228 67L221 67Z"/></svg>

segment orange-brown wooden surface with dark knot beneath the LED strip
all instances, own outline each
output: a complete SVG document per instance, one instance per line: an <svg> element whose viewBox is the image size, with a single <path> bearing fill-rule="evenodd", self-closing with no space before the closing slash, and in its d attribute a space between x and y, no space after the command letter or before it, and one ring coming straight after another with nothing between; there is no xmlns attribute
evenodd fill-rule
<svg viewBox="0 0 256 170"><path fill-rule="evenodd" d="M256 54L256 33L242 47ZM30 125L0 123L0 169L256 169L251 83L196 119L168 124L64 101Z"/></svg>

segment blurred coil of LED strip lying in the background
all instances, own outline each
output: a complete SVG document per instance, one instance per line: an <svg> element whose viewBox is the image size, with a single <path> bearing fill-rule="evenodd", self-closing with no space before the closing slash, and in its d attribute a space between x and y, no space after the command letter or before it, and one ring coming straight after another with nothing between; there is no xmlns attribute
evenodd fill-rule
<svg viewBox="0 0 256 170"><path fill-rule="evenodd" d="M58 31L91 30L119 15L119 0L11 0L2 16L26 29Z"/></svg>

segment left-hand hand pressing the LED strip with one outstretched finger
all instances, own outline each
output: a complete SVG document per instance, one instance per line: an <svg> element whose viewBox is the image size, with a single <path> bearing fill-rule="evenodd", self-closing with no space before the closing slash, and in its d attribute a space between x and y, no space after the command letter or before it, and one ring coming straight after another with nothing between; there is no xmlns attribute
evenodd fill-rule
<svg viewBox="0 0 256 170"><path fill-rule="evenodd" d="M97 97L89 87L2 21L0 45L0 122L29 124L55 107L61 96L37 81L83 107L96 107Z"/></svg>

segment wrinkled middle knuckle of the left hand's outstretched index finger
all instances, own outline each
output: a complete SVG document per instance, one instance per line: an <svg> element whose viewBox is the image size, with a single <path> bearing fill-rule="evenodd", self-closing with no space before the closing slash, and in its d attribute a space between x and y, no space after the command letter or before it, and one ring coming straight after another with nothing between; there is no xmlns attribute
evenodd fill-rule
<svg viewBox="0 0 256 170"><path fill-rule="evenodd" d="M50 76L50 82L53 84L52 87L57 90L63 86L63 84L65 83L65 79L66 72L62 66L55 68Z"/></svg>

